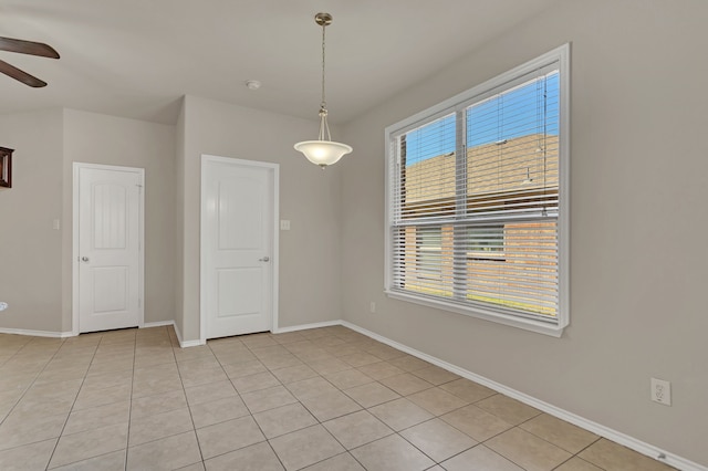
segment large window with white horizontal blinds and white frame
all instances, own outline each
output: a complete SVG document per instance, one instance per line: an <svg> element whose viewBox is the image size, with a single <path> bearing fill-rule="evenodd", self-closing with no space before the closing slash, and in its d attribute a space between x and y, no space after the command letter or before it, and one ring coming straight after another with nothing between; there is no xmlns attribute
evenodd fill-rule
<svg viewBox="0 0 708 471"><path fill-rule="evenodd" d="M560 336L569 46L386 129L386 292Z"/></svg>

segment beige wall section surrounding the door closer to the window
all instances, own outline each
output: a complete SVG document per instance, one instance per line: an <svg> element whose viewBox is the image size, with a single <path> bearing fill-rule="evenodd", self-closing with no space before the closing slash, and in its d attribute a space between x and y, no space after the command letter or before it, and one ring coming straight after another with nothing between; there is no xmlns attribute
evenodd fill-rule
<svg viewBox="0 0 708 471"><path fill-rule="evenodd" d="M313 138L316 122L187 96L184 105L184 168L178 170L178 211L184 229L177 327L183 339L199 338L199 224L201 155L280 165L279 327L339 320L340 169L322 170L296 153ZM336 129L333 129L336 135ZM352 158L356 158L352 156ZM184 159L184 160L183 160ZM181 321L181 322L180 322Z"/></svg>

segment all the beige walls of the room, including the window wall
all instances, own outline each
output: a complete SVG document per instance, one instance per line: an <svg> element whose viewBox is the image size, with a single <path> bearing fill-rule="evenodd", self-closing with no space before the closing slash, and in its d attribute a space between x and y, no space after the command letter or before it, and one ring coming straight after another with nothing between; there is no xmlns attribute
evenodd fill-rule
<svg viewBox="0 0 708 471"><path fill-rule="evenodd" d="M14 188L0 190L0 328L71 328L77 160L146 168L146 321L174 318L197 339L200 155L273 161L292 221L280 233L281 327L344 317L708 464L706 18L701 0L563 0L348 124L340 138L355 151L325 171L292 149L313 121L202 98L185 100L176 129L74 111L2 115L0 145L17 151ZM388 300L384 128L568 41L571 326L558 339ZM648 400L650 376L673 383L673 407Z"/></svg>

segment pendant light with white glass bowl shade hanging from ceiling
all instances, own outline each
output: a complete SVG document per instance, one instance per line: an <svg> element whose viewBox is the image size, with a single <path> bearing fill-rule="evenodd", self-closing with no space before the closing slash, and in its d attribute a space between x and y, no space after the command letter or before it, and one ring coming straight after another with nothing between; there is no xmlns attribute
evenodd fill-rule
<svg viewBox="0 0 708 471"><path fill-rule="evenodd" d="M327 165L336 164L342 156L351 153L352 146L335 143L330 136L330 126L327 125L327 104L324 95L324 29L332 24L332 15L330 13L317 13L314 21L322 27L322 102L320 103L320 134L317 140L303 140L295 144L295 150L305 155L308 160L319 165L323 169Z"/></svg>

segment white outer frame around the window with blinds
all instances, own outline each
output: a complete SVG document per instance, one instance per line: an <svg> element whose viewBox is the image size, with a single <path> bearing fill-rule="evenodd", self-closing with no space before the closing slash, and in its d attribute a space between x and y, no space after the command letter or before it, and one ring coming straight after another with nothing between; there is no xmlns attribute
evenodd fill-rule
<svg viewBox="0 0 708 471"><path fill-rule="evenodd" d="M392 241L392 206L393 206L393 179L391 168L392 136L399 135L407 129L417 127L423 122L429 122L436 117L449 114L451 109L458 109L462 106L469 106L485 100L491 91L498 92L498 87L504 84L513 83L519 77L527 75L535 70L548 66L558 62L559 81L560 81L560 123L559 123L559 216L558 216L558 290L559 305L558 314L554 320L539 321L537 318L527 318L514 315L503 308L493 306L478 305L460 305L449 303L439 299L430 299L416 295L410 292L392 291L393 286L393 241ZM442 103L439 103L428 109L415 114L402 122L386 127L386 236L385 236L385 286L384 292L387 296L420 304L428 307L439 308L444 311L455 312L459 314L478 317L499 324L504 324L525 331L537 332L541 334L560 337L563 328L570 324L570 44L563 44L537 59L533 59L511 71L502 73L480 85L477 85L466 92L462 92Z"/></svg>

